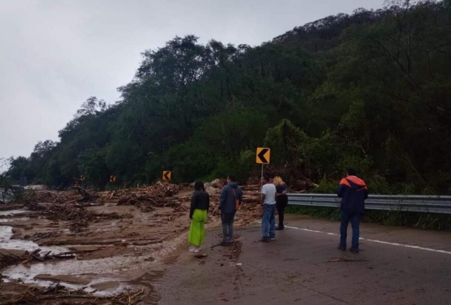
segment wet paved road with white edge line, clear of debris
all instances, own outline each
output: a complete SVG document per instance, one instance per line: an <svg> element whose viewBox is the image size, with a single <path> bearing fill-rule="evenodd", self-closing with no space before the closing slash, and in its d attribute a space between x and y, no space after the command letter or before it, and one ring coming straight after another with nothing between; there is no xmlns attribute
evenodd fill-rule
<svg viewBox="0 0 451 305"><path fill-rule="evenodd" d="M208 256L167 267L159 304L451 304L451 232L363 223L353 254L336 248L337 222L288 215L287 225L270 243L258 223L236 229L232 247L210 248L220 231L208 231Z"/></svg>

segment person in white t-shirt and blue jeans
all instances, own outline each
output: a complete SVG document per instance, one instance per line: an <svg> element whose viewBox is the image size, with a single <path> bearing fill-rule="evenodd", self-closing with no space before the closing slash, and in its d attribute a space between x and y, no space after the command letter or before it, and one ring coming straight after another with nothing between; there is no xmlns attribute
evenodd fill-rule
<svg viewBox="0 0 451 305"><path fill-rule="evenodd" d="M276 186L268 175L262 178L262 241L276 240Z"/></svg>

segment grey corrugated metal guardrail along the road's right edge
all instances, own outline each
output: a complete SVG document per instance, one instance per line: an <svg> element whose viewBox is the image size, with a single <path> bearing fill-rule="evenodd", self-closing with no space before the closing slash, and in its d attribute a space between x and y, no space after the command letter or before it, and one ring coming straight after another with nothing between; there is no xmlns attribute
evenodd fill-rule
<svg viewBox="0 0 451 305"><path fill-rule="evenodd" d="M334 194L288 194L288 204L340 207ZM369 195L365 209L451 214L451 196Z"/></svg>

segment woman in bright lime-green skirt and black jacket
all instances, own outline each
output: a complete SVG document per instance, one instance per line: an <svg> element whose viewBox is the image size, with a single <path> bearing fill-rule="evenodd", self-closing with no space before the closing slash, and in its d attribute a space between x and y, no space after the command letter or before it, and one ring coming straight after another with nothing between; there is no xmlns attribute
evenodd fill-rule
<svg viewBox="0 0 451 305"><path fill-rule="evenodd" d="M194 184L194 193L191 197L191 208L189 209L189 219L191 227L188 233L188 241L192 248L189 252L199 252L200 245L205 241L205 222L207 222L207 212L210 207L210 196L205 192L204 184L197 181Z"/></svg>

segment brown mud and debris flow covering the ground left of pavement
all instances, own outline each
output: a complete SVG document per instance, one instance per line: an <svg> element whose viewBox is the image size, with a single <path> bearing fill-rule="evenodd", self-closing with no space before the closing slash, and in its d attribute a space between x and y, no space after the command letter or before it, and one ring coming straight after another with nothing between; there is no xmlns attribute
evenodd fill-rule
<svg viewBox="0 0 451 305"><path fill-rule="evenodd" d="M222 185L207 186L207 227ZM258 189L244 190L238 226L260 214ZM188 247L191 186L33 192L0 205L0 305L158 303L154 285Z"/></svg>

